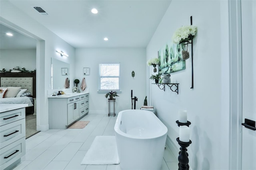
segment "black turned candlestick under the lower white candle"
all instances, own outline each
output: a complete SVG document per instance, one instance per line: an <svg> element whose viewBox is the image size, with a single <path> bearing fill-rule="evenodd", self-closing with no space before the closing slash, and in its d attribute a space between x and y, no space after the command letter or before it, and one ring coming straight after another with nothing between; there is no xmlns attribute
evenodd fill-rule
<svg viewBox="0 0 256 170"><path fill-rule="evenodd" d="M188 165L188 153L186 152L188 147L192 141L189 140L189 142L182 142L180 141L180 138L178 137L176 139L178 144L180 145L180 152L178 156L178 161L179 161L179 168L178 170L189 170L189 165Z"/></svg>

